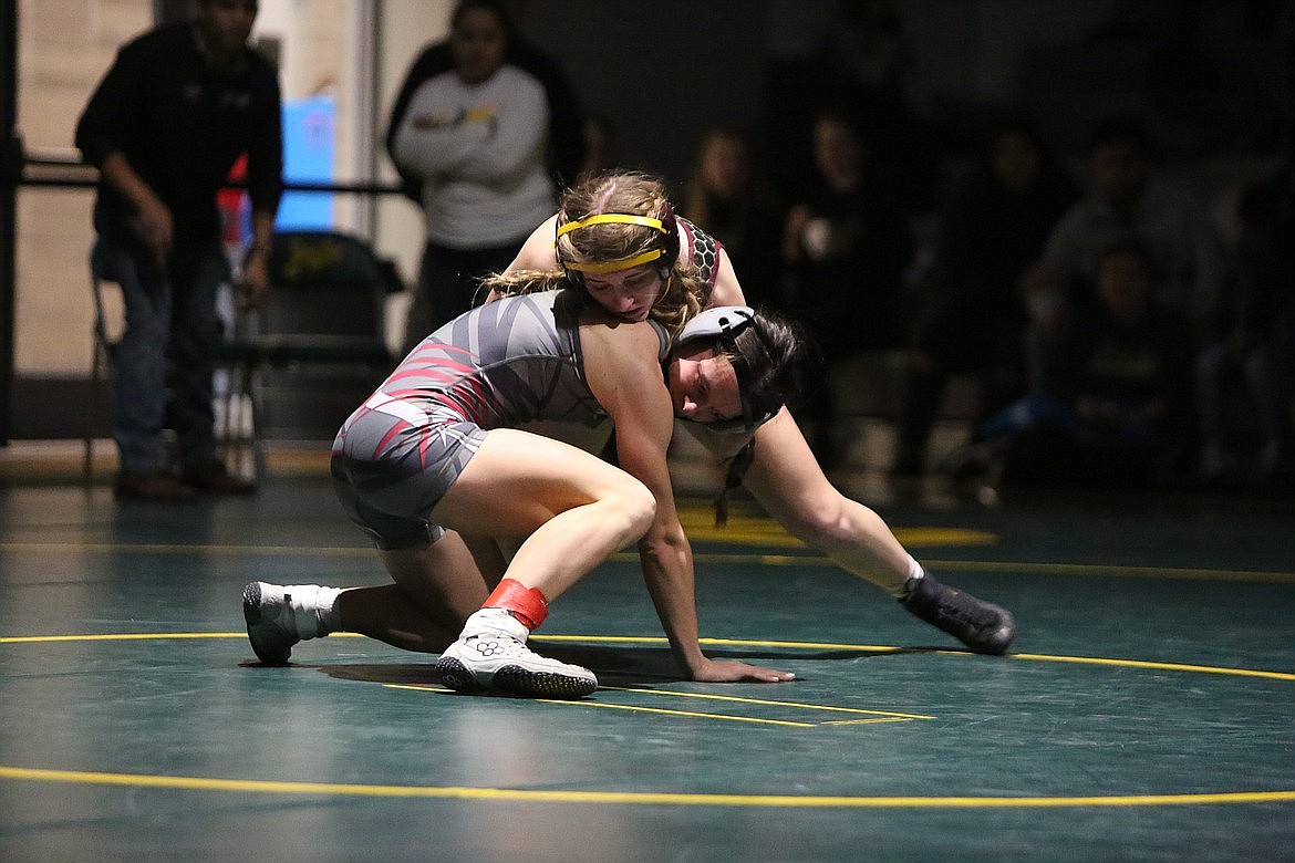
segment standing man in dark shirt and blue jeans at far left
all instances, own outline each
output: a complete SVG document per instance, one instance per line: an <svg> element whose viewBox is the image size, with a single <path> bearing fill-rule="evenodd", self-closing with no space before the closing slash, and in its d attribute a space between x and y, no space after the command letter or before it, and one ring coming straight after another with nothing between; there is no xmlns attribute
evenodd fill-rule
<svg viewBox="0 0 1295 863"><path fill-rule="evenodd" d="M255 305L269 289L282 193L278 72L247 47L256 3L197 8L194 21L123 47L76 124L76 146L100 169L95 265L120 285L126 304L113 357L120 498L255 490L216 457L211 348L218 289L231 277L216 191L246 153L253 241L242 279ZM179 477L163 463L167 421Z"/></svg>

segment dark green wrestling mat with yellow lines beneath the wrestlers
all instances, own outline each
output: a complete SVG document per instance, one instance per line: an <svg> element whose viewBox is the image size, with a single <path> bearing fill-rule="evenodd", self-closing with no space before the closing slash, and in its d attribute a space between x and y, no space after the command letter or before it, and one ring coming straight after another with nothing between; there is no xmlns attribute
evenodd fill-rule
<svg viewBox="0 0 1295 863"><path fill-rule="evenodd" d="M1014 652L984 657L698 498L707 650L799 679L680 681L618 555L535 642L603 683L556 703L452 695L434 657L348 635L258 666L246 581L385 580L320 470L155 506L17 461L6 862L1295 859L1290 499L869 499L1013 609Z"/></svg>

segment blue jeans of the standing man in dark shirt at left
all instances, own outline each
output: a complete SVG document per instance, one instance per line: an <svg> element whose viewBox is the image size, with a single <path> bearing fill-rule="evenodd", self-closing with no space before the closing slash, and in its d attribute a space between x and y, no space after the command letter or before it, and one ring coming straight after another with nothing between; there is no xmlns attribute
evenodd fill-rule
<svg viewBox="0 0 1295 863"><path fill-rule="evenodd" d="M175 430L181 463L214 459L216 291L229 278L220 243L179 247L164 268L133 243L101 237L95 268L120 286L126 307L126 329L113 352L120 470L161 470L163 427Z"/></svg>

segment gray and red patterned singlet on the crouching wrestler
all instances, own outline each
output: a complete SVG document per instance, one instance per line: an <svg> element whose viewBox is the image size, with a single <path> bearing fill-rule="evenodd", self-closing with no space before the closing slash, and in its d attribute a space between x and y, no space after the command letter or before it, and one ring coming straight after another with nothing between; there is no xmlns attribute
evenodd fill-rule
<svg viewBox="0 0 1295 863"><path fill-rule="evenodd" d="M491 428L591 424L575 291L509 296L462 314L409 352L342 424L332 471L342 506L379 549L436 541L429 512ZM663 327L651 323L668 352Z"/></svg>

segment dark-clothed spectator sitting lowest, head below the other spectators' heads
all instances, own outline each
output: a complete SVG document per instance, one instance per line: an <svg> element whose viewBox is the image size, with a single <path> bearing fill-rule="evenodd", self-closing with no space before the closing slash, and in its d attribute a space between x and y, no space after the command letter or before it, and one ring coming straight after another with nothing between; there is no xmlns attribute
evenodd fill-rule
<svg viewBox="0 0 1295 863"><path fill-rule="evenodd" d="M1005 483L1175 481L1190 440L1193 340L1154 295L1141 242L1099 255L1092 301L1048 343L1041 387L982 423L954 472L965 479L1005 461Z"/></svg>

